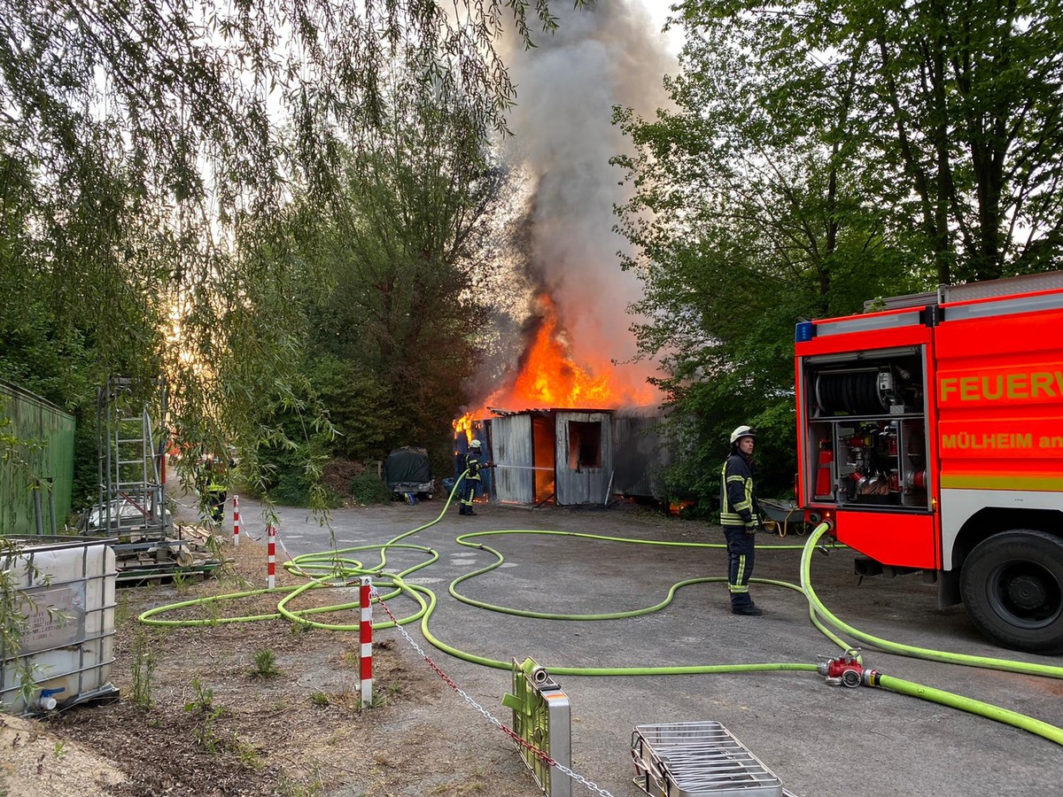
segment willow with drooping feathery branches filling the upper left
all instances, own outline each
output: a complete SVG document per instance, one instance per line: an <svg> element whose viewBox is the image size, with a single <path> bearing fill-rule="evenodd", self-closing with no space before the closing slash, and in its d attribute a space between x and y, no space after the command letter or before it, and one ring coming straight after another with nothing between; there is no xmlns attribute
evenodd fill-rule
<svg viewBox="0 0 1063 797"><path fill-rule="evenodd" d="M0 0L4 327L46 319L55 351L88 351L86 385L165 374L182 434L252 447L263 396L305 403L287 299L318 275L265 223L285 215L290 164L319 197L342 187L337 142L382 122L395 58L465 92L470 135L504 129L507 18L525 37L556 24L546 0Z"/></svg>

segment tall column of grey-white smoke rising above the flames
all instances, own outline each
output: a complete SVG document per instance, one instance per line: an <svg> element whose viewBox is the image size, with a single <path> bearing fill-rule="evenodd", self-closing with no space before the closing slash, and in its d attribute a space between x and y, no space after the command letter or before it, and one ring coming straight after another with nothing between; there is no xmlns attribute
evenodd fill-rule
<svg viewBox="0 0 1063 797"><path fill-rule="evenodd" d="M555 7L556 6L556 7ZM613 105L652 116L667 103L662 78L675 57L636 0L601 0L572 10L552 3L559 28L535 35L537 47L506 55L517 85L510 113L510 160L528 175L528 234L512 275L520 290L546 288L568 330L573 360L600 368L636 353L627 306L642 284L620 268L626 241L612 232L613 205L625 201L621 171L609 159L626 149L612 125ZM654 363L620 364L620 386L646 390Z"/></svg>

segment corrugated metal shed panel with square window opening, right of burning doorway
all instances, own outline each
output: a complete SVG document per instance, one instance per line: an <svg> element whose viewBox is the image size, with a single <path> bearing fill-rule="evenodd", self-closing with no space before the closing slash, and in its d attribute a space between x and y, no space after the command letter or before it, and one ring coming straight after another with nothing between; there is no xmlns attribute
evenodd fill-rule
<svg viewBox="0 0 1063 797"><path fill-rule="evenodd" d="M556 498L558 506L605 504L612 477L612 424L609 412L558 410Z"/></svg>

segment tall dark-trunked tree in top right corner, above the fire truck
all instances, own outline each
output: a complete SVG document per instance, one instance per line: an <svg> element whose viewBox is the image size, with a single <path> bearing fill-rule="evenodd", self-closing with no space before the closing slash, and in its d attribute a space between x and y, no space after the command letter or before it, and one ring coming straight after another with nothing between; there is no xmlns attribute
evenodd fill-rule
<svg viewBox="0 0 1063 797"><path fill-rule="evenodd" d="M796 67L771 71L765 107L805 102L810 74L851 88L845 146L860 148L863 180L890 176L874 197L924 238L938 283L1058 268L1058 2L710 1L681 17L744 40L758 67Z"/></svg>

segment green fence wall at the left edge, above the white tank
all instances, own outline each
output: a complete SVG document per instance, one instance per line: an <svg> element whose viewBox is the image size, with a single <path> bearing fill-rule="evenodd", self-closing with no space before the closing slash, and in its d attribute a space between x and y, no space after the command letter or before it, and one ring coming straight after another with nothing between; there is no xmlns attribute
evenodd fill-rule
<svg viewBox="0 0 1063 797"><path fill-rule="evenodd" d="M63 532L73 429L73 416L0 379L0 535Z"/></svg>

